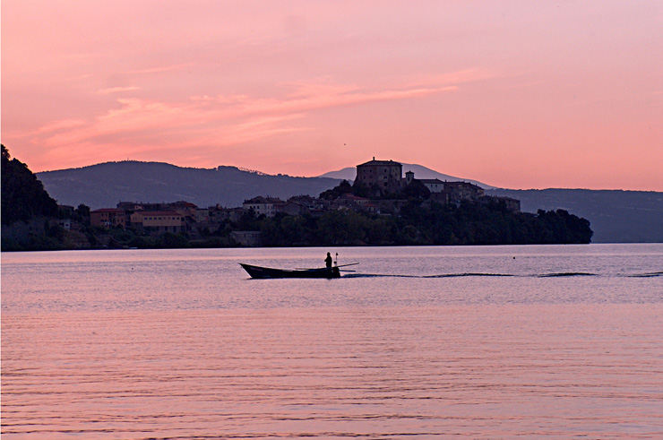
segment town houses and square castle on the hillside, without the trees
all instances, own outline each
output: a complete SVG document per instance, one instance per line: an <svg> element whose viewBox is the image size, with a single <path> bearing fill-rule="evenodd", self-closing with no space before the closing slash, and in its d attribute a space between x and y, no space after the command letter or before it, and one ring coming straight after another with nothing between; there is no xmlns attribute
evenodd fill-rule
<svg viewBox="0 0 663 440"><path fill-rule="evenodd" d="M131 203L120 202L116 208L90 211L90 225L101 228L134 229L142 233L201 232L216 230L225 220L237 222L246 211L258 216L274 217L280 212L288 215L321 216L332 210L352 210L378 214L397 214L407 200L398 197L383 200L381 194L399 194L415 182L426 186L428 200L437 203L461 203L463 200L482 201L499 199L511 211L520 211L520 201L507 197L489 197L483 188L469 182L447 182L439 179L416 179L412 171L402 174L402 165L393 160L370 160L357 165L355 185L375 192L375 198L340 194L332 199L310 195L297 195L283 201L275 197L258 196L246 200L242 207L225 208L220 205L199 208L194 203ZM239 233L236 239L249 240ZM249 240L250 241L250 240Z"/></svg>

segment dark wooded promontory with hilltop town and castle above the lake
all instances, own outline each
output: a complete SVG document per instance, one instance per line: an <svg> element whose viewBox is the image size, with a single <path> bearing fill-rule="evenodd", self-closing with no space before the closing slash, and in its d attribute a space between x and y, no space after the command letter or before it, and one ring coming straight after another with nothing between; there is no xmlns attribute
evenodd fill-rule
<svg viewBox="0 0 663 440"><path fill-rule="evenodd" d="M26 243L23 229L4 227L3 250L587 243L591 237L589 221L566 211L523 213L518 200L486 196L478 185L418 179L403 174L399 162L375 158L357 165L353 185L343 181L318 196L263 194L235 207L59 205L56 219L43 225L47 237L35 241L40 227L31 228L23 228L32 234Z"/></svg>

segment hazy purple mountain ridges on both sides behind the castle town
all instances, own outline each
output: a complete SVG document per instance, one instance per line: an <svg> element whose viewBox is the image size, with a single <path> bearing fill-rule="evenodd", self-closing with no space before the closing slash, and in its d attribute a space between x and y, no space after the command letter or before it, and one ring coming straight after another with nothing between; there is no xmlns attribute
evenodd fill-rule
<svg viewBox="0 0 663 440"><path fill-rule="evenodd" d="M115 207L123 202L176 202L200 207L216 204L240 206L256 195L287 199L293 195L317 196L348 177L347 170L321 177L266 175L236 167L182 168L163 162L106 162L83 168L37 173L48 194L58 203L90 208ZM404 164L418 178L465 180L486 188L488 195L521 201L521 210L564 209L590 220L593 243L663 243L663 193L586 189L512 190L493 188L476 180L437 173L426 167ZM339 174L345 172L346 174ZM352 179L356 171L352 171ZM351 180L351 179L349 179Z"/></svg>

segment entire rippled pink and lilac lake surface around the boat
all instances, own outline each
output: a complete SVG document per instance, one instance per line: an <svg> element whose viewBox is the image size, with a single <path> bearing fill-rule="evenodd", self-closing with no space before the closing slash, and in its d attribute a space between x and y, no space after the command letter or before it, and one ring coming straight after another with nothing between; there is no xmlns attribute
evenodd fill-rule
<svg viewBox="0 0 663 440"><path fill-rule="evenodd" d="M662 335L663 245L3 254L2 437L659 439Z"/></svg>

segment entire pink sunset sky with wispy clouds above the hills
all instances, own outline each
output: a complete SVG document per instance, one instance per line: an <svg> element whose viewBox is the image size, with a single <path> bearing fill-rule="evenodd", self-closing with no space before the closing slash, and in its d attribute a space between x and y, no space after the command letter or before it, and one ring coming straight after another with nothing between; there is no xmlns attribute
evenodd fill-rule
<svg viewBox="0 0 663 440"><path fill-rule="evenodd" d="M663 191L663 2L3 0L2 142L33 171Z"/></svg>

